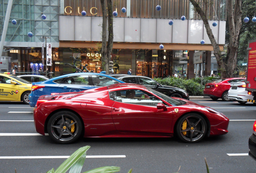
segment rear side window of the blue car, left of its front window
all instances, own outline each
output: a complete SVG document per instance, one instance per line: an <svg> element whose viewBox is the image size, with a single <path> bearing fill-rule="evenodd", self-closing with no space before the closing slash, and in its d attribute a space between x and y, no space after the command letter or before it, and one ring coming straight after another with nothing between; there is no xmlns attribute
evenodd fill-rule
<svg viewBox="0 0 256 173"><path fill-rule="evenodd" d="M67 78L60 78L58 80L54 80L54 82L60 83L60 84L89 85L89 76L88 75L69 76Z"/></svg>

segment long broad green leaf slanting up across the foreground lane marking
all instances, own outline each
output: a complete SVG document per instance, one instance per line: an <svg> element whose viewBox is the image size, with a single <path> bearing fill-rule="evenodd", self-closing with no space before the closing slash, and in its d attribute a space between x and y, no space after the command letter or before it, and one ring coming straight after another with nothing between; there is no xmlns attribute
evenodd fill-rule
<svg viewBox="0 0 256 173"><path fill-rule="evenodd" d="M65 173L68 171L72 165L78 161L80 157L82 157L86 151L90 148L90 146L81 147L80 149L76 150L68 159L66 159L57 169L54 173Z"/></svg>

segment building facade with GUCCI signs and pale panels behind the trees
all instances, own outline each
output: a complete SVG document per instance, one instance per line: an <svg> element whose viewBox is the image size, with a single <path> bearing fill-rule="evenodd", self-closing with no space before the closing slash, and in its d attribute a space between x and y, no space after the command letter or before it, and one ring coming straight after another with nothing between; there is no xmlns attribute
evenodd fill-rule
<svg viewBox="0 0 256 173"><path fill-rule="evenodd" d="M226 0L212 0L203 6L217 43L225 44ZM3 0L2 19L8 1ZM156 6L161 10L157 11ZM122 12L126 8L126 12ZM85 11L86 16L81 12ZM213 47L206 34L203 21L193 10L189 0L113 0L114 44L112 60L114 73L149 77L164 77L173 72L194 77L192 61L195 51L205 51L205 75L211 72ZM43 20L41 15L45 15ZM186 20L181 20L185 16ZM17 20L12 24L11 20ZM173 24L169 25L169 21ZM217 22L217 26L213 26ZM3 24L3 20L2 20ZM70 56L77 57L89 70L101 71L102 10L100 0L16 0L12 4L8 32L2 56L11 57L19 72L37 72L42 64L42 45L52 45L54 75L74 72L65 65L72 64ZM33 36L27 36L32 32ZM0 34L2 30L0 30ZM200 44L204 40L205 44ZM164 48L160 49L159 45ZM208 58L209 57L209 58ZM207 65L208 64L208 65ZM207 68L208 66L208 68Z"/></svg>

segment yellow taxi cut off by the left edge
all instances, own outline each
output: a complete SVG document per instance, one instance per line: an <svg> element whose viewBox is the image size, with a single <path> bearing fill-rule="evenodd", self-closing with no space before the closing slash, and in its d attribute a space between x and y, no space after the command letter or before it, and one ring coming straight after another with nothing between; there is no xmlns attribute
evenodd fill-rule
<svg viewBox="0 0 256 173"><path fill-rule="evenodd" d="M0 101L23 101L29 104L31 82L10 74L0 73Z"/></svg>

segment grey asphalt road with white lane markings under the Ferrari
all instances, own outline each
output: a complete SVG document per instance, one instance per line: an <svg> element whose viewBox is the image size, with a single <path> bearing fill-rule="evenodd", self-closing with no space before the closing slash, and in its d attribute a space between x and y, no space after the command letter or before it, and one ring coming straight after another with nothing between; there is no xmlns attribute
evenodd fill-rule
<svg viewBox="0 0 256 173"><path fill-rule="evenodd" d="M176 138L85 138L60 145L49 136L36 133L33 108L29 105L0 102L0 173L14 173L15 168L17 173L46 173L65 161L53 156L68 157L86 145L91 146L87 151L90 158L85 160L81 172L118 166L121 173L131 168L133 173L175 173L179 168L179 173L206 173L206 158L210 173L255 173L256 161L248 156L248 139L256 119L256 106L221 99L191 101L224 113L230 119L229 133L195 144ZM113 158L104 158L109 156Z"/></svg>

